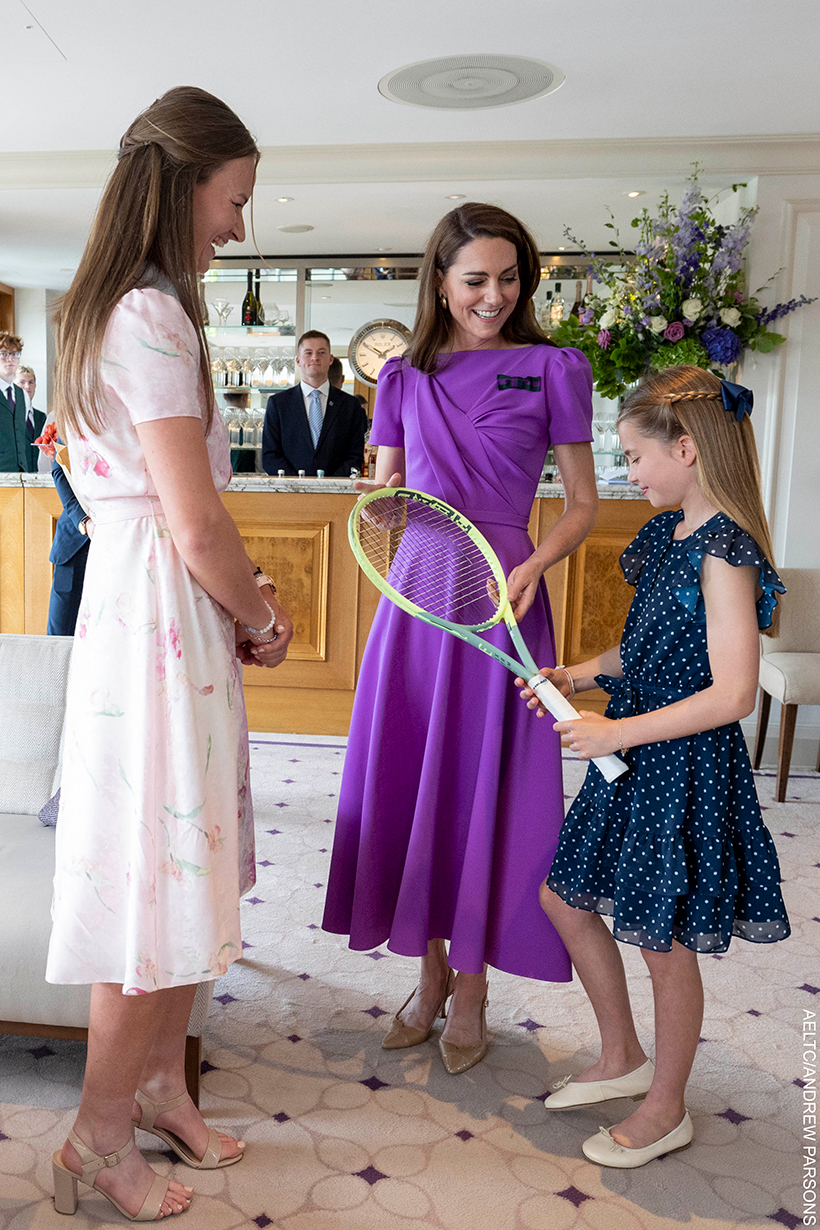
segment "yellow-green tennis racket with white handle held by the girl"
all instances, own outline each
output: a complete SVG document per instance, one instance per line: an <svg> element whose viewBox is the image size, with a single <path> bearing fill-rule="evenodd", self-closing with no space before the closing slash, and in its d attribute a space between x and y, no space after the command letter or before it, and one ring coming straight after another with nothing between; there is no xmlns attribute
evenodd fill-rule
<svg viewBox="0 0 820 1230"><path fill-rule="evenodd" d="M515 621L507 578L487 539L457 509L408 487L385 487L359 498L348 523L350 546L361 569L391 601L427 624L452 632L527 681L553 717L579 713L538 674ZM519 659L478 636L507 624ZM627 765L616 755L597 756L607 781Z"/></svg>

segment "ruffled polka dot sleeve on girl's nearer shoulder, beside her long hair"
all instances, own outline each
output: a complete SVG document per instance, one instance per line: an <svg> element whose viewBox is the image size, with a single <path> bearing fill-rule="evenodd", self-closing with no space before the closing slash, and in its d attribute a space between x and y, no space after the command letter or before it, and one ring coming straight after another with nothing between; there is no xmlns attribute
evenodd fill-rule
<svg viewBox="0 0 820 1230"><path fill-rule="evenodd" d="M679 603L697 617L706 619L701 592L701 567L704 555L725 560L733 568L749 566L757 569L757 584L762 590L756 603L757 627L761 630L771 627L777 595L786 593L786 585L754 538L724 513L713 517L692 534L691 546L681 560L680 584L672 587Z"/></svg>

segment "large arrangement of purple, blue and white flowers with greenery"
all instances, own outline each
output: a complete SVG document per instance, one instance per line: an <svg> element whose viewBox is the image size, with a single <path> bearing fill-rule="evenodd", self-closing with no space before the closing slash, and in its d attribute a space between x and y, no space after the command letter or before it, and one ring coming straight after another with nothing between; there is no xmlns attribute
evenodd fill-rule
<svg viewBox="0 0 820 1230"><path fill-rule="evenodd" d="M656 218L644 209L633 219L639 231L634 258L616 240L610 241L618 248L616 260L595 257L564 228L609 294L588 299L580 316L553 330L552 341L584 352L604 397L623 394L650 369L687 363L725 373L746 349L773 351L786 338L768 326L815 300L800 295L766 309L756 298L760 290L746 295L743 256L756 213L741 209L731 226L719 224L696 166L680 209L664 193ZM617 236L615 223L606 225Z"/></svg>

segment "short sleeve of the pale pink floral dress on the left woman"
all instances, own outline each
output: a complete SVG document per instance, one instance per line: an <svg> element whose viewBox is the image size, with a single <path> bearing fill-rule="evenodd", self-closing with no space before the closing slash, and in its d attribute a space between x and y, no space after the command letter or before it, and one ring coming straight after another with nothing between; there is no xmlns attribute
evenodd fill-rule
<svg viewBox="0 0 820 1230"><path fill-rule="evenodd" d="M155 289L123 295L106 328L102 379L134 424L202 418L199 343L173 295Z"/></svg>

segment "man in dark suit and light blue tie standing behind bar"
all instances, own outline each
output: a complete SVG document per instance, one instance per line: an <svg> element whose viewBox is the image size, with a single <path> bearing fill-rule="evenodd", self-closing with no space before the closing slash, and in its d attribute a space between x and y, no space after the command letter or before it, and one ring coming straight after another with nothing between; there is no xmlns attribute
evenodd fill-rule
<svg viewBox="0 0 820 1230"><path fill-rule="evenodd" d="M266 474L304 470L328 477L361 471L366 418L355 397L333 389L327 379L333 355L326 333L302 333L296 347L301 383L268 397L262 433Z"/></svg>

